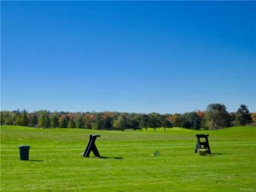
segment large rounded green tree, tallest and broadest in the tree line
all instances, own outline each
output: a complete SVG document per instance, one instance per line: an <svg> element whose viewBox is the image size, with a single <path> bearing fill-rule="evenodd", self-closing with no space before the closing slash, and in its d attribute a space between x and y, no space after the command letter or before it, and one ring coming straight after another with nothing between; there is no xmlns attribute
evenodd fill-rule
<svg viewBox="0 0 256 192"><path fill-rule="evenodd" d="M230 114L223 104L212 103L207 106L206 125L210 130L230 126Z"/></svg>

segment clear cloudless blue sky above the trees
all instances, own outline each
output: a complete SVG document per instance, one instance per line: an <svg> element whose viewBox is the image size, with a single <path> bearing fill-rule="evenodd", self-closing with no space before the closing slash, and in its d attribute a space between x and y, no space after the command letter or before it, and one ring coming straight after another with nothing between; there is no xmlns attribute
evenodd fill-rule
<svg viewBox="0 0 256 192"><path fill-rule="evenodd" d="M1 1L1 109L256 112L256 2Z"/></svg>

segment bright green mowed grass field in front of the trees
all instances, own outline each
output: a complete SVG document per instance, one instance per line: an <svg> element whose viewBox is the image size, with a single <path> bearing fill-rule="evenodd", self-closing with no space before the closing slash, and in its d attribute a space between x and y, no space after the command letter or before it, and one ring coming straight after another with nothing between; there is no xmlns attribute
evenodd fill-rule
<svg viewBox="0 0 256 192"><path fill-rule="evenodd" d="M194 153L209 134L212 154ZM90 134L104 158L84 158ZM30 145L20 160L19 145ZM159 156L152 156L154 151ZM1 127L1 191L256 191L256 128L93 131Z"/></svg>

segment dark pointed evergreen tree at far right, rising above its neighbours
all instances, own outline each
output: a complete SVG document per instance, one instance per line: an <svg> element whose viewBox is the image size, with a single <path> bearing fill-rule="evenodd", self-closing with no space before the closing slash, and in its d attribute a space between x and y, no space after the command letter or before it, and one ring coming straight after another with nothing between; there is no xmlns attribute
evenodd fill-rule
<svg viewBox="0 0 256 192"><path fill-rule="evenodd" d="M241 105L236 111L235 125L247 125L253 122L251 113L246 105Z"/></svg>

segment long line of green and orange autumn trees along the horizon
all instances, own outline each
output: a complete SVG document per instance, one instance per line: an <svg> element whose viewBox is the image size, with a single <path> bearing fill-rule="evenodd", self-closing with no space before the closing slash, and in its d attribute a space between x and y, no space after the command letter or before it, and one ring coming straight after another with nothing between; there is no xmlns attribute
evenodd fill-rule
<svg viewBox="0 0 256 192"><path fill-rule="evenodd" d="M1 111L1 125L23 125L41 128L83 128L94 130L120 130L159 127L183 127L187 129L221 129L234 125L248 125L256 122L256 113L250 113L241 105L236 113L228 113L225 106L212 103L206 111L188 113L119 113L119 112L49 112L39 110L28 113L25 109Z"/></svg>

